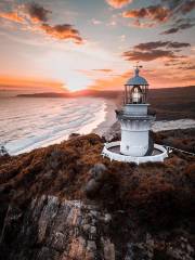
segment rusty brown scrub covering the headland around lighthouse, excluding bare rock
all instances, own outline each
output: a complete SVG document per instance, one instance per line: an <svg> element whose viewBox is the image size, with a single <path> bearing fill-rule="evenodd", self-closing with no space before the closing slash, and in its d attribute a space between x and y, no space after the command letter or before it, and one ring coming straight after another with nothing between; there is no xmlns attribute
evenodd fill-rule
<svg viewBox="0 0 195 260"><path fill-rule="evenodd" d="M194 130L168 133L155 134L156 141L194 151ZM195 217L195 157L173 152L164 164L110 162L101 156L103 143L96 134L73 135L61 144L1 157L1 203L25 207L43 194L93 199L112 211L127 210L154 229ZM87 193L84 186L96 164L105 166L104 178L94 192Z"/></svg>

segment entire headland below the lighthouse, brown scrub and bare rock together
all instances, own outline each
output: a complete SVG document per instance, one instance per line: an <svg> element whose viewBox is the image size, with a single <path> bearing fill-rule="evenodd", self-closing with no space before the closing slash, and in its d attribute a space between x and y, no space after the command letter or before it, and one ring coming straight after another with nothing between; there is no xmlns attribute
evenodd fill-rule
<svg viewBox="0 0 195 260"><path fill-rule="evenodd" d="M192 152L195 130L154 139ZM109 161L101 156L104 142L94 133L72 134L61 144L0 157L3 260L58 260L63 253L72 260L194 259L195 157L173 151L165 162Z"/></svg>

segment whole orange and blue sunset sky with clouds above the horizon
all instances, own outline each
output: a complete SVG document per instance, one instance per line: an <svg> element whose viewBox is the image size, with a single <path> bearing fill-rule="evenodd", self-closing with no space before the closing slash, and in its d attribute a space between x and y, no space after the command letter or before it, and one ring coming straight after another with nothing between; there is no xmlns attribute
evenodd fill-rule
<svg viewBox="0 0 195 260"><path fill-rule="evenodd" d="M195 0L0 0L0 91L195 83Z"/></svg>

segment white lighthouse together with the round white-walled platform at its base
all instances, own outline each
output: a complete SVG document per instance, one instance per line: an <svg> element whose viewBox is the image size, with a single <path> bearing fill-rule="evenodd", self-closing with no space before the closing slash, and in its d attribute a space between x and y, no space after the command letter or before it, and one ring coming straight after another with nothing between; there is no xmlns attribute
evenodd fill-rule
<svg viewBox="0 0 195 260"><path fill-rule="evenodd" d="M148 83L139 73L136 66L134 77L125 84L123 106L116 110L121 141L106 143L102 154L112 160L135 164L164 161L168 153L164 146L154 144L150 134L155 116L148 114Z"/></svg>

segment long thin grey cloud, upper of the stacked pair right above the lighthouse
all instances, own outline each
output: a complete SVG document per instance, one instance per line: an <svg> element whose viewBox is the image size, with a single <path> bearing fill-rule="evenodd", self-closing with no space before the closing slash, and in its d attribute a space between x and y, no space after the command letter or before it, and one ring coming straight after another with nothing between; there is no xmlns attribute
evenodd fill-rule
<svg viewBox="0 0 195 260"><path fill-rule="evenodd" d="M154 49L164 48L164 47L179 49L179 48L191 47L191 44L187 42L177 42L177 41L150 41L145 43L140 43L135 46L134 49L140 51L148 51L148 50L154 50Z"/></svg>

